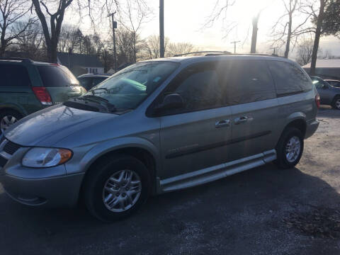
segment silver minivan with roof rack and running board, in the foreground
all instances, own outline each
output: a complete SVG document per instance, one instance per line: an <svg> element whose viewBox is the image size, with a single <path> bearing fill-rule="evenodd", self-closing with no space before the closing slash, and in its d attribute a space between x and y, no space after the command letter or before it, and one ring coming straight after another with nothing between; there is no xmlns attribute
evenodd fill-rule
<svg viewBox="0 0 340 255"><path fill-rule="evenodd" d="M268 162L300 160L319 96L295 62L262 55L139 62L84 96L33 113L0 140L0 181L19 203L83 200L103 221L154 194Z"/></svg>

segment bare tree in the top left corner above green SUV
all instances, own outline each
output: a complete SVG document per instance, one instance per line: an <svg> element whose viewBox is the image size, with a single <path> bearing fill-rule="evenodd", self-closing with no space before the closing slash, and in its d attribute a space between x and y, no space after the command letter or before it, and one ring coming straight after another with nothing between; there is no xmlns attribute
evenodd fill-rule
<svg viewBox="0 0 340 255"><path fill-rule="evenodd" d="M28 17L25 26L16 29L16 23L25 17L30 11L30 5L26 0L1 0L0 1L0 56L4 55L6 47L25 33L33 23L33 18Z"/></svg>

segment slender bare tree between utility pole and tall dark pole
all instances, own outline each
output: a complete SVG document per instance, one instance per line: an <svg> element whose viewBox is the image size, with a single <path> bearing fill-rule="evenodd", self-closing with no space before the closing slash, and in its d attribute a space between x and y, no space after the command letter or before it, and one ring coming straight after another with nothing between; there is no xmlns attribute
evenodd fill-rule
<svg viewBox="0 0 340 255"><path fill-rule="evenodd" d="M125 0L125 6L120 8L120 23L132 35L134 62L137 60L137 44L142 42L137 40L140 38L140 29L151 13L145 0Z"/></svg>

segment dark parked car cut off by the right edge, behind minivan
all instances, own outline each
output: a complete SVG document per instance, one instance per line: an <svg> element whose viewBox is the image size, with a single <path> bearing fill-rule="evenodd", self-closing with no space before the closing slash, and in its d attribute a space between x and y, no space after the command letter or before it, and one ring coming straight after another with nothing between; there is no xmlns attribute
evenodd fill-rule
<svg viewBox="0 0 340 255"><path fill-rule="evenodd" d="M340 88L328 84L320 77L310 77L320 96L320 103L340 110Z"/></svg>

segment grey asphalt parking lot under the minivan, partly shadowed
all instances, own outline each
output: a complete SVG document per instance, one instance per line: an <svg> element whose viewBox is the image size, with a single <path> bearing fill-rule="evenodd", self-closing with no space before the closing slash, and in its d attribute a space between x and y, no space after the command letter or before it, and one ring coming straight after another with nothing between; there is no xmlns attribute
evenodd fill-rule
<svg viewBox="0 0 340 255"><path fill-rule="evenodd" d="M0 254L340 254L340 111L318 119L295 169L157 196L110 225L84 208L26 208L0 185Z"/></svg>

